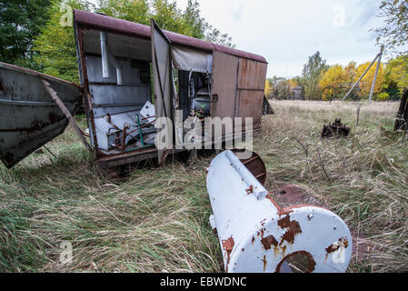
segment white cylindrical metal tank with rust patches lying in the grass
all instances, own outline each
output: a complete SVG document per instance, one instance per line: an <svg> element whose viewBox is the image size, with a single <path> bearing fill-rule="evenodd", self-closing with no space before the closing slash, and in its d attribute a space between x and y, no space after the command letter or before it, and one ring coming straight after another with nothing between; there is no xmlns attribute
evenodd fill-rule
<svg viewBox="0 0 408 291"><path fill-rule="evenodd" d="M343 220L319 206L281 208L232 151L206 178L226 272L344 272L352 236Z"/></svg>

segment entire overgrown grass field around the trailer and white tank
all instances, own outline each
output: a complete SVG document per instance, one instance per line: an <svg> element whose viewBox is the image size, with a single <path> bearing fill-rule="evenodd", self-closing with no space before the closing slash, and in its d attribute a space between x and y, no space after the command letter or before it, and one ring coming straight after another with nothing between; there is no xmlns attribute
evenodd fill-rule
<svg viewBox="0 0 408 291"><path fill-rule="evenodd" d="M408 271L408 141L393 134L397 103L271 102L254 151L266 188L296 184L341 216L353 232L349 272ZM349 138L320 138L342 118ZM84 119L76 117L81 125ZM301 144L303 146L301 146ZM0 166L0 271L222 272L200 157L168 158L129 176L98 176L69 127L12 170ZM306 155L306 150L307 155ZM62 243L73 246L61 264Z"/></svg>

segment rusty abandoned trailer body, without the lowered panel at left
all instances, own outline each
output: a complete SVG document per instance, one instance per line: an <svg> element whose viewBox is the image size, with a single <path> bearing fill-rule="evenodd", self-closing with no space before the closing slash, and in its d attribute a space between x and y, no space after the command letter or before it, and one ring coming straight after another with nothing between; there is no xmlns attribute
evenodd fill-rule
<svg viewBox="0 0 408 291"><path fill-rule="evenodd" d="M138 121L152 120L143 115L144 105L154 104L155 118L174 121L174 109L183 110L185 120L198 104L207 116L253 117L254 129L260 127L263 56L162 31L154 21L148 26L80 10L74 14L85 113L101 168L148 158L163 162L181 151L157 149L153 138L142 142L139 136L156 132L153 123L138 132ZM127 144L132 140L127 132L137 134L133 144Z"/></svg>

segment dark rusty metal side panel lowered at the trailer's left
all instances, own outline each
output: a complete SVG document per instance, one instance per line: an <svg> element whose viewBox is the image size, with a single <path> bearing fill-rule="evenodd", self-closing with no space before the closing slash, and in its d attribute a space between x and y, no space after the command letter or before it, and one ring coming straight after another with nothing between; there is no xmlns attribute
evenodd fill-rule
<svg viewBox="0 0 408 291"><path fill-rule="evenodd" d="M0 63L0 158L9 168L62 134L68 125L64 113L45 90L43 79L74 113L81 103L81 86Z"/></svg>

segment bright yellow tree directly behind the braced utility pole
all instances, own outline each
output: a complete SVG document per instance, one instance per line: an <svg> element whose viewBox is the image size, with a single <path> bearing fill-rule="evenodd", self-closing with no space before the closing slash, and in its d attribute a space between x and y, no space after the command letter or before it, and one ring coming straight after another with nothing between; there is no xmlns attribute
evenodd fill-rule
<svg viewBox="0 0 408 291"><path fill-rule="evenodd" d="M364 63L362 65L359 65L356 69L356 75L354 78L354 82L357 81L357 79L363 75L364 71L367 69L367 67L370 65L370 62ZM364 75L363 79L360 81L360 92L358 92L358 95L362 99L368 98L368 95L370 95L370 90L371 86L373 84L373 77L375 75L375 70L377 67L377 62L368 70L367 74ZM378 75L377 75L377 80L375 82L374 86L374 92L373 95L378 95L383 91L383 84L384 84L384 70L383 70L383 64L380 64L379 70L378 70Z"/></svg>

